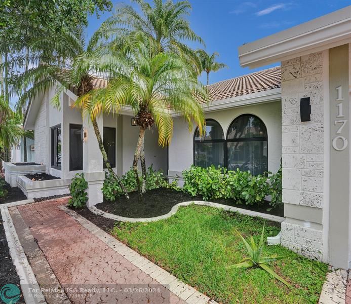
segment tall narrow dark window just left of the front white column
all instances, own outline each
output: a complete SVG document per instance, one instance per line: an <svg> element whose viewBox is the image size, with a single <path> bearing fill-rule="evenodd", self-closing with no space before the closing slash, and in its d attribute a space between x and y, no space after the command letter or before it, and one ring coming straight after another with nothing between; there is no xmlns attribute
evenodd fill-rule
<svg viewBox="0 0 351 304"><path fill-rule="evenodd" d="M69 171L83 170L82 125L69 125Z"/></svg>

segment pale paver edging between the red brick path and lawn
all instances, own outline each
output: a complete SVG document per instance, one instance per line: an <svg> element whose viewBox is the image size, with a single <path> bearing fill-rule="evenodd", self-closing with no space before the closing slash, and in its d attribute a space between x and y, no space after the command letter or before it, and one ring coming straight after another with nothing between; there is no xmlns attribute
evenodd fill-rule
<svg viewBox="0 0 351 304"><path fill-rule="evenodd" d="M102 229L100 229L98 226L87 220L85 217L81 216L80 214L77 214L71 209L68 209L66 206L59 206L59 208L66 212L68 215L70 215L72 218L74 218L90 233L99 238L112 250L121 254L124 258L126 258L132 264L134 264L138 269L145 272L152 279L168 288L171 292L173 292L179 298L184 300L186 303L218 304L216 301L211 300L208 296L178 280L175 276L171 275L169 272L165 271L158 265L143 257L133 249L129 248L127 245L116 240L114 237L104 232Z"/></svg>

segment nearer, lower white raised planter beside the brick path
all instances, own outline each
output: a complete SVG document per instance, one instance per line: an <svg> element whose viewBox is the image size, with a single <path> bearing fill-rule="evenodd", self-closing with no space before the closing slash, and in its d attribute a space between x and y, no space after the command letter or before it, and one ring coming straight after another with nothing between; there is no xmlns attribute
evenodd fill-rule
<svg viewBox="0 0 351 304"><path fill-rule="evenodd" d="M71 181L70 178L32 181L23 175L17 176L17 185L28 199L69 194Z"/></svg>

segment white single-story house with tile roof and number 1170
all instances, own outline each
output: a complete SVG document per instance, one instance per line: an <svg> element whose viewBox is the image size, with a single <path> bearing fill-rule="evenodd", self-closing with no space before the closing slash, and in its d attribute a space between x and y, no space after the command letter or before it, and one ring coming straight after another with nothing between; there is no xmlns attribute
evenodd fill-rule
<svg viewBox="0 0 351 304"><path fill-rule="evenodd" d="M146 165L179 179L191 164L241 168L254 174L276 172L281 158L282 244L308 257L348 269L351 261L351 6L239 48L242 66L264 69L209 86L204 105L206 135L174 113L168 148L157 130L147 131ZM96 87L106 85L97 79ZM88 181L89 204L102 202L104 169L92 126L70 106L74 90L61 96L51 88L30 103L24 128L34 130L34 161L61 178L77 172ZM133 112L98 118L107 154L119 175L129 170L138 136ZM81 132L83 128L83 132ZM83 136L82 136L83 135ZM83 141L81 139L83 137ZM17 180L25 189L25 182ZM66 188L65 188L66 189ZM47 194L55 188L47 185Z"/></svg>

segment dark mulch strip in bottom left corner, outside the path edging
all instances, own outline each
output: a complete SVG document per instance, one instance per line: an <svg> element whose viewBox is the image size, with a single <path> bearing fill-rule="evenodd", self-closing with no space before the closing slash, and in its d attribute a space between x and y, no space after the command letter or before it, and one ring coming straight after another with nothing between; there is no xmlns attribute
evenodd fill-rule
<svg viewBox="0 0 351 304"><path fill-rule="evenodd" d="M5 284L15 284L21 290L20 279L17 275L15 265L12 262L12 258L9 252L9 246L7 244L4 224L0 216L0 287ZM19 302L23 302L23 296L21 296Z"/></svg>

